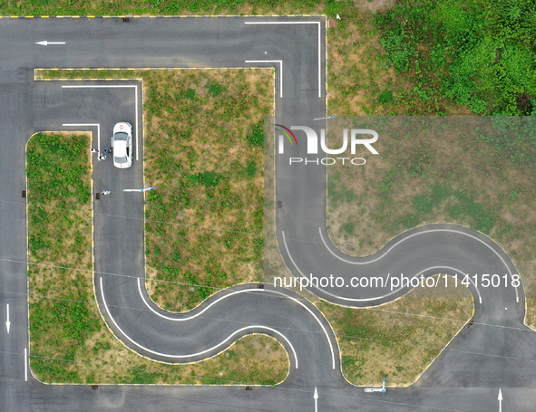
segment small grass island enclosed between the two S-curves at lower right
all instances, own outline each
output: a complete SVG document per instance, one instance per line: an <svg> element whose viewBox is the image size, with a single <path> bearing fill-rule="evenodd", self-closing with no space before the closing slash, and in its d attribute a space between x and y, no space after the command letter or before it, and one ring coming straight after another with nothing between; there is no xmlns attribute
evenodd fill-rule
<svg viewBox="0 0 536 412"><path fill-rule="evenodd" d="M355 385L407 386L473 316L465 289L440 288L436 296L417 288L404 298L372 309L317 303L330 320L341 348L343 374Z"/></svg>

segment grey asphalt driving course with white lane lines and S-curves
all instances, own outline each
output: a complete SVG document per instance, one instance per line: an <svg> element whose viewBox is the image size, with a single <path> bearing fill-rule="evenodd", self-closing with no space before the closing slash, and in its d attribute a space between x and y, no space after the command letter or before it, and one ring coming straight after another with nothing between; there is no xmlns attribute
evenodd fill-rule
<svg viewBox="0 0 536 412"><path fill-rule="evenodd" d="M9 304L12 323L9 334L0 333L0 410L491 411L498 409L500 387L505 410L533 410L536 339L522 324L521 286L485 292L473 288L477 302L473 326L453 341L416 385L390 389L385 395L365 394L346 383L333 332L322 314L294 292L268 285L258 290L246 284L216 293L187 314L161 311L150 302L142 282L143 227L136 220L143 216L141 201L120 194L127 185L141 183L139 159L134 160L132 173L117 178L110 163L95 167L98 190L116 185L110 197L95 204L95 286L109 326L132 350L165 361L203 359L239 336L263 331L287 349L291 361L287 380L276 388L248 392L239 387L151 386L101 386L93 391L85 386L43 385L28 373L26 223L20 197L25 188L25 142L35 131L72 128L63 126L68 124L102 125L102 139L108 139L115 120L106 104L141 129L136 121L141 108L136 110L131 91L67 91L61 87L66 83L36 84L33 69L274 66L278 119L284 123L284 113L313 126L312 119L326 112L324 27L322 19L291 17L132 18L128 24L114 18L0 20L0 188L4 195L0 311ZM35 44L44 40L64 44ZM95 126L76 127L83 128L94 131ZM139 142L135 145L135 150L141 150ZM302 145L295 149L289 153L303 150ZM356 268L360 276L383 276L386 268L390 273L427 275L475 271L479 265L515 273L496 244L452 225L415 229L375 256L348 259L327 241L326 168L297 168L287 174L285 165L285 158L278 158L277 196L285 205L278 213L278 244L295 276L307 275L313 268L347 278L355 275ZM138 223L105 220L106 215L133 217ZM358 306L387 302L405 290L388 296L392 291L386 288L313 292Z"/></svg>

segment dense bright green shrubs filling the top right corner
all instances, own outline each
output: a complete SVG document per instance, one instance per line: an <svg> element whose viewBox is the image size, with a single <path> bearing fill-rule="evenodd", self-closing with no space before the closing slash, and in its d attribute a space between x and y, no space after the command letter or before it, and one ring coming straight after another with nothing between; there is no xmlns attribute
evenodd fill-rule
<svg viewBox="0 0 536 412"><path fill-rule="evenodd" d="M495 115L534 111L534 21L529 0L400 0L374 19L387 62L407 73L419 100L446 97Z"/></svg>

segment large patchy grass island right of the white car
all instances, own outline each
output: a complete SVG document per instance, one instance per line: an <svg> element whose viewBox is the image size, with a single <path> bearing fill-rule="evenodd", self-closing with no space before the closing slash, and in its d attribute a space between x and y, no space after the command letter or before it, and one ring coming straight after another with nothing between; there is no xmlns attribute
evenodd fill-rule
<svg viewBox="0 0 536 412"><path fill-rule="evenodd" d="M145 178L158 187L146 197L147 287L155 302L185 311L218 288L262 279L263 117L272 113L272 70L38 76L143 79Z"/></svg>

